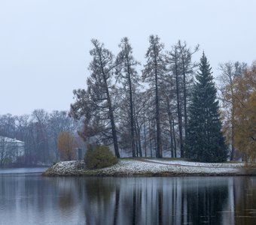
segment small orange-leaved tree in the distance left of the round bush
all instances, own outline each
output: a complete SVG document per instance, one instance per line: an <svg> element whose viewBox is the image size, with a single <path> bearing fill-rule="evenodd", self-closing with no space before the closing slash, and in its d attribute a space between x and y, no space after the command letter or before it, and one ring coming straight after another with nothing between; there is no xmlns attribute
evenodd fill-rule
<svg viewBox="0 0 256 225"><path fill-rule="evenodd" d="M58 150L60 160L75 160L77 142L72 133L61 132L58 137Z"/></svg>

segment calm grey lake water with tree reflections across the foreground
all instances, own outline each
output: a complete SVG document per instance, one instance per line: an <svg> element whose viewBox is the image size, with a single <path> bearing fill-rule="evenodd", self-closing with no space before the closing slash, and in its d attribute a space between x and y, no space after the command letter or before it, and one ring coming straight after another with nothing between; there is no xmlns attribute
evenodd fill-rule
<svg viewBox="0 0 256 225"><path fill-rule="evenodd" d="M0 169L0 224L256 224L256 177L43 177Z"/></svg>

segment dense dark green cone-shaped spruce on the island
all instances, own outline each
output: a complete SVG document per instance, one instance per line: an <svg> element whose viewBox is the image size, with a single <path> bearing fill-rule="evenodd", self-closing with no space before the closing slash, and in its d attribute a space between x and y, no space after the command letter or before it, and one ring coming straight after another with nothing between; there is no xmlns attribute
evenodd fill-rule
<svg viewBox="0 0 256 225"><path fill-rule="evenodd" d="M203 162L222 162L227 160L227 146L221 133L221 120L216 100L217 89L211 70L203 53L188 109L185 156Z"/></svg>

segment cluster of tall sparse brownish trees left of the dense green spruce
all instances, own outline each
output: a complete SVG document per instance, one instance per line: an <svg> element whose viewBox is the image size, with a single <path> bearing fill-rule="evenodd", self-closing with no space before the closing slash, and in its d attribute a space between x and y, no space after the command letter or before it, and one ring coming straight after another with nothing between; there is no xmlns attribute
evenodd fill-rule
<svg viewBox="0 0 256 225"><path fill-rule="evenodd" d="M158 36L149 37L146 64L133 57L127 37L120 42L117 57L103 43L92 40L87 89L74 91L74 118L84 118L81 136L92 142L113 144L133 157L184 156L187 105L194 70L190 49L178 41L169 51Z"/></svg>

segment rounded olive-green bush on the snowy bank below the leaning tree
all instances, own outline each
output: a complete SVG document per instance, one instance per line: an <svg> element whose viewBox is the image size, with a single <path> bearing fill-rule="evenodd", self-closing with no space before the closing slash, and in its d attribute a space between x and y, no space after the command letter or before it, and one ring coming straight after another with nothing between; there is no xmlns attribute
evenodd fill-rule
<svg viewBox="0 0 256 225"><path fill-rule="evenodd" d="M88 169L99 169L113 166L117 163L117 157L114 157L106 145L90 145L84 155L84 163Z"/></svg>

